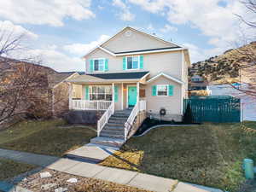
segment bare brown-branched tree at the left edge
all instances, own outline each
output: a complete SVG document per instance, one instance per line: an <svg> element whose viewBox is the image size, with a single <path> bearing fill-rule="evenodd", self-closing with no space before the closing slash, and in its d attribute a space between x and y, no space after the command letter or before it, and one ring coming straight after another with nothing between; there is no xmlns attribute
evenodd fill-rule
<svg viewBox="0 0 256 192"><path fill-rule="evenodd" d="M0 124L15 116L27 113L34 101L34 90L43 86L37 61L32 57L10 59L12 55L26 52L23 41L26 34L0 27Z"/></svg>

